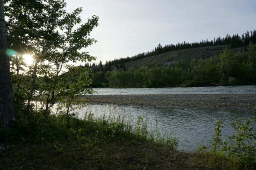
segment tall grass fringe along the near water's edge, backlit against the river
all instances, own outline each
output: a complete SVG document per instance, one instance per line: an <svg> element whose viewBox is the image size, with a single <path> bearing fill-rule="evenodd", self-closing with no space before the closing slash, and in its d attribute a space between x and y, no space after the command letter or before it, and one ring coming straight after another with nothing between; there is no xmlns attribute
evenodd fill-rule
<svg viewBox="0 0 256 170"><path fill-rule="evenodd" d="M108 113L107 113L108 112ZM125 112L125 110L124 110ZM166 145L172 147L173 149L178 149L178 139L173 133L162 133L162 130L158 128L158 123L156 122L156 127L150 127L148 119L144 116L138 116L136 120L133 120L130 113L120 113L118 114L115 109L108 110L104 112L103 115L99 117L92 116L93 113L85 113L84 120L86 122L98 122L106 123L109 127L113 129L121 129L123 132L127 132L130 135L136 137L138 141L151 141L156 144ZM96 123L96 124L98 124Z"/></svg>

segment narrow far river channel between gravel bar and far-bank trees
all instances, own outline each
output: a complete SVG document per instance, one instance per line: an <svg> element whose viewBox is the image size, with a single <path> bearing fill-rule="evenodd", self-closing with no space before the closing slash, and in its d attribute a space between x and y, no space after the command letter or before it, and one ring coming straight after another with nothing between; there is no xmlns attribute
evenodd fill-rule
<svg viewBox="0 0 256 170"><path fill-rule="evenodd" d="M110 94L256 94L256 85L171 88L94 88L99 95Z"/></svg>

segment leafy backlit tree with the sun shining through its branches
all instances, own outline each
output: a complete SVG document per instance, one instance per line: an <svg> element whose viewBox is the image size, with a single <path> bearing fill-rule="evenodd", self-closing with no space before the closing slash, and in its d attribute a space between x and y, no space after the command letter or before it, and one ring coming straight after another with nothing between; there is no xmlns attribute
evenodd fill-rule
<svg viewBox="0 0 256 170"><path fill-rule="evenodd" d="M81 102L78 98L82 94L92 93L90 68L70 62L95 59L80 50L96 42L89 36L98 26L99 18L92 16L81 24L82 8L68 13L66 3L60 0L8 0L5 3L9 18L6 23L8 46L17 52L12 58L16 113L38 109L48 117L56 102L61 102L59 107L68 113L74 109L73 104ZM24 63L24 54L32 55L33 64Z"/></svg>

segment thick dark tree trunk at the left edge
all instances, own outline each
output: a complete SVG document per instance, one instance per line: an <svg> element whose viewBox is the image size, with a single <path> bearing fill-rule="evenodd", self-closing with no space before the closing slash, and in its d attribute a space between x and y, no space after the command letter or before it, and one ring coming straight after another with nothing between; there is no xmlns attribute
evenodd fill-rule
<svg viewBox="0 0 256 170"><path fill-rule="evenodd" d="M6 55L7 40L4 20L4 0L0 0L0 119L4 129L10 127L15 118L12 80L10 75L10 59ZM15 120L15 119L14 119Z"/></svg>

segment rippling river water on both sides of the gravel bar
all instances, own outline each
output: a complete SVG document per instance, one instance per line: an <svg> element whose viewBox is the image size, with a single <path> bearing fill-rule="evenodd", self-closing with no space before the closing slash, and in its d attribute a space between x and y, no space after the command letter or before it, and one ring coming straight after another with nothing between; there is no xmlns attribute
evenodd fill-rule
<svg viewBox="0 0 256 170"><path fill-rule="evenodd" d="M195 88L94 88L100 95L110 94L255 94L256 85L250 86L212 86ZM104 113L116 113L124 117L130 117L132 122L136 122L138 116L147 119L148 129L158 129L161 134L172 134L178 138L179 149L185 151L195 151L202 145L210 145L210 139L214 133L216 122L221 120L222 139L235 133L230 123L234 123L237 118L252 118L253 113L238 110L190 110L190 109L170 109L170 108L138 108L135 106L111 106L111 105L91 105L82 108L80 117L85 113L94 113L100 117ZM251 123L256 127L255 121Z"/></svg>

